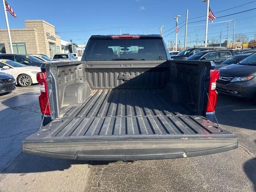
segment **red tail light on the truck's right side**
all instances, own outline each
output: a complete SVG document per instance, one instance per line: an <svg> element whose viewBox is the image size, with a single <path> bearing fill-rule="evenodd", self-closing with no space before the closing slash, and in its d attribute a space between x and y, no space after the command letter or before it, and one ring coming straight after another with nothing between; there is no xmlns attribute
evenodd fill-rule
<svg viewBox="0 0 256 192"><path fill-rule="evenodd" d="M209 98L207 102L206 112L213 112L216 109L217 97L218 94L216 92L216 81L220 77L220 72L216 69L210 71L210 85L209 85Z"/></svg>

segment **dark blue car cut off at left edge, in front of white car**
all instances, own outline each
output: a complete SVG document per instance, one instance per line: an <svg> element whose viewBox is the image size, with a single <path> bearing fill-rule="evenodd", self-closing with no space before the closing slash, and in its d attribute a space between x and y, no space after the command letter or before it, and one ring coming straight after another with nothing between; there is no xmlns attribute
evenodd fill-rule
<svg viewBox="0 0 256 192"><path fill-rule="evenodd" d="M16 80L12 75L0 72L0 94L14 91L15 83Z"/></svg>

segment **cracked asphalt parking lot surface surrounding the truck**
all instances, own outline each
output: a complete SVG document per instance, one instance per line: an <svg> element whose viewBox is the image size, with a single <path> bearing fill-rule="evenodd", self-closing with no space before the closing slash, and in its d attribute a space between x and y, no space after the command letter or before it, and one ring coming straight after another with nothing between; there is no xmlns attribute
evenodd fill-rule
<svg viewBox="0 0 256 192"><path fill-rule="evenodd" d="M255 191L256 104L218 96L220 126L239 137L236 150L192 158L86 162L21 152L40 127L39 86L0 96L0 191Z"/></svg>

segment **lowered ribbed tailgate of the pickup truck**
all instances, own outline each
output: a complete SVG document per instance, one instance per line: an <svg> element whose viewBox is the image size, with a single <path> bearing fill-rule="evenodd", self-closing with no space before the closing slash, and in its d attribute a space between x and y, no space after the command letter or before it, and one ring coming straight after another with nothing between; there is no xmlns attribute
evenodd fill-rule
<svg viewBox="0 0 256 192"><path fill-rule="evenodd" d="M150 160L213 154L238 138L202 116L55 119L22 142L28 154L72 160Z"/></svg>

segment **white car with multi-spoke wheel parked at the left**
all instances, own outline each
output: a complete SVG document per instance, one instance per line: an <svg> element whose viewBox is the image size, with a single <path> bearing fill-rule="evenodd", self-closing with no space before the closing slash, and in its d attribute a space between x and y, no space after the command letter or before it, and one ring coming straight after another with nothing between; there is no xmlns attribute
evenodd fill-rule
<svg viewBox="0 0 256 192"><path fill-rule="evenodd" d="M26 66L12 60L0 59L0 72L14 76L16 84L22 87L37 83L36 73L40 71L40 67Z"/></svg>

